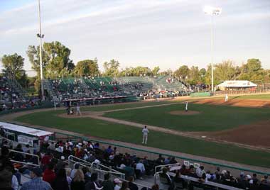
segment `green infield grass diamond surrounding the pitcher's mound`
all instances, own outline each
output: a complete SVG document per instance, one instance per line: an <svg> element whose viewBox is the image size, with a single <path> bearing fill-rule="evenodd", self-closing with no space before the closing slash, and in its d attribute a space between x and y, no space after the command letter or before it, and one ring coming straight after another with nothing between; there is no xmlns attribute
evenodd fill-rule
<svg viewBox="0 0 270 190"><path fill-rule="evenodd" d="M125 121L156 125L180 131L217 131L236 128L269 118L269 109L215 106L210 104L189 104L190 111L200 111L192 116L176 116L170 111L183 111L184 104L155 108L114 111L104 116Z"/></svg>

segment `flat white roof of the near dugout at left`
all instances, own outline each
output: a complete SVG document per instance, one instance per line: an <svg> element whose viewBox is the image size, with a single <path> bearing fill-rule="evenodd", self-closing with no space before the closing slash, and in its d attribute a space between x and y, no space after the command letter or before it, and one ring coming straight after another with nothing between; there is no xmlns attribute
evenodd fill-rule
<svg viewBox="0 0 270 190"><path fill-rule="evenodd" d="M45 130L39 130L36 128L27 128L25 126L22 125L15 125L12 123L4 123L4 122L0 122L0 126L2 126L4 129L7 130L13 130L19 133L25 133L27 135L33 135L36 137L42 137L42 136L46 136L46 135L53 135L53 133L45 131Z"/></svg>

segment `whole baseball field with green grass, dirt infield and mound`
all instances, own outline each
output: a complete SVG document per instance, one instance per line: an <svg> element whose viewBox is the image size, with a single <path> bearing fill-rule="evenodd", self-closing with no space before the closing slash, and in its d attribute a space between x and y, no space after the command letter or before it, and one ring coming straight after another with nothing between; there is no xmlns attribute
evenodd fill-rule
<svg viewBox="0 0 270 190"><path fill-rule="evenodd" d="M148 147L184 152L259 167L270 164L270 95L184 99L82 107L82 116L64 109L36 111L13 120L84 136L141 145L148 125Z"/></svg>

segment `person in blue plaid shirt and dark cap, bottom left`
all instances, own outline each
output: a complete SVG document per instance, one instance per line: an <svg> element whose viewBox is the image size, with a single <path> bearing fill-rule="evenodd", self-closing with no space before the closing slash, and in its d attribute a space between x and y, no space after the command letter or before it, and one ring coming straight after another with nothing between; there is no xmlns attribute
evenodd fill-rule
<svg viewBox="0 0 270 190"><path fill-rule="evenodd" d="M51 190L48 182L43 181L42 170L40 167L34 167L30 172L31 181L27 181L21 186L21 190Z"/></svg>

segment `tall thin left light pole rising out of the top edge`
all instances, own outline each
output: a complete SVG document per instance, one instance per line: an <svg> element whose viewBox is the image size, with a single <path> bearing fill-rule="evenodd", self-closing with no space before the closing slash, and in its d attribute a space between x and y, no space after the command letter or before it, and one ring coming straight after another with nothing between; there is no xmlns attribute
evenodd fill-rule
<svg viewBox="0 0 270 190"><path fill-rule="evenodd" d="M37 34L39 38L39 60L41 67L41 96L42 101L45 100L44 96L44 86L43 86L43 63L42 63L42 38L44 38L44 34L41 33L41 0L38 0L38 18L39 18L39 33Z"/></svg>

